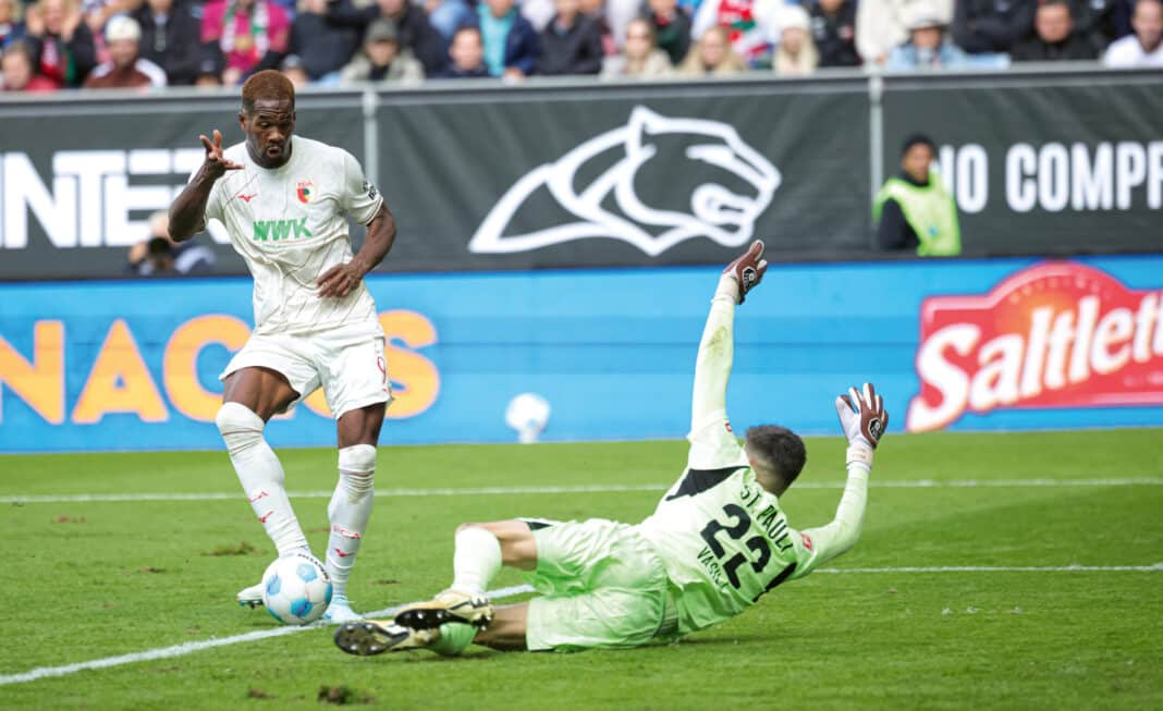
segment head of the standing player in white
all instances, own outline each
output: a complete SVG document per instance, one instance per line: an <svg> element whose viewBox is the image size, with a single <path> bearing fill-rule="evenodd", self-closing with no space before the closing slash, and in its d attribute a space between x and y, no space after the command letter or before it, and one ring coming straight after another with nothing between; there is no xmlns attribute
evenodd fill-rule
<svg viewBox="0 0 1163 711"><path fill-rule="evenodd" d="M242 85L238 126L247 136L247 150L263 168L278 168L291 159L294 130L294 85L269 69L256 72Z"/></svg>

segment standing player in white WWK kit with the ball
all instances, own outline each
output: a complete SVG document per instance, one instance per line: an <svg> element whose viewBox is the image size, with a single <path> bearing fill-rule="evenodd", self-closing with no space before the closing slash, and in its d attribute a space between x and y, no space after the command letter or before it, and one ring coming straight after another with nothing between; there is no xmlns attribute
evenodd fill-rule
<svg viewBox="0 0 1163 711"><path fill-rule="evenodd" d="M383 261L395 222L348 151L292 136L294 87L262 71L242 87L245 141L199 136L206 161L170 208L180 242L220 220L255 279L255 330L227 365L215 421L258 520L280 556L311 554L284 486L283 467L263 438L272 415L322 388L336 419L338 484L327 513L326 569L333 598L324 619L358 619L348 577L368 528L376 443L392 400L384 330L363 277ZM352 255L348 216L368 227ZM240 604L262 604L262 584Z"/></svg>

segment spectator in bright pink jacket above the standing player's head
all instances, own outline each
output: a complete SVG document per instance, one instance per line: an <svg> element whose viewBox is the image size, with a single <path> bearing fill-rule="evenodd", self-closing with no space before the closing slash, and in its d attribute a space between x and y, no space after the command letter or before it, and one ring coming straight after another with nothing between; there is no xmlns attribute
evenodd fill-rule
<svg viewBox="0 0 1163 711"><path fill-rule="evenodd" d="M222 50L222 83L238 84L267 52L285 52L291 17L270 0L209 0L202 9L202 42Z"/></svg>

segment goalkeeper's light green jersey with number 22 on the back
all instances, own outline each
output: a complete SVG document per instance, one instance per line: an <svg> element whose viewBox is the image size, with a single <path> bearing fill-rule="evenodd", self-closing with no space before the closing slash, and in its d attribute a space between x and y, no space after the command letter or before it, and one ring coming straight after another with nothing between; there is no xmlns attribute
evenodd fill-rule
<svg viewBox="0 0 1163 711"><path fill-rule="evenodd" d="M864 516L865 464L849 465L835 520L804 532L789 525L779 499L756 482L725 408L733 315L733 303L713 301L695 367L687 469L638 525L666 566L683 634L739 614L772 588L848 550Z"/></svg>

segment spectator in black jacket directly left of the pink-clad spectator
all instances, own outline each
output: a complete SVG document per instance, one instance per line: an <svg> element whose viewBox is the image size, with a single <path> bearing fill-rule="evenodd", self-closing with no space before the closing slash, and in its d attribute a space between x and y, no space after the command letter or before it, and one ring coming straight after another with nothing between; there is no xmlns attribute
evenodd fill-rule
<svg viewBox="0 0 1163 711"><path fill-rule="evenodd" d="M133 17L142 28L138 49L142 58L165 70L170 86L193 84L202 48L198 42L201 26L190 6L180 1L176 6L173 0L145 0Z"/></svg>

